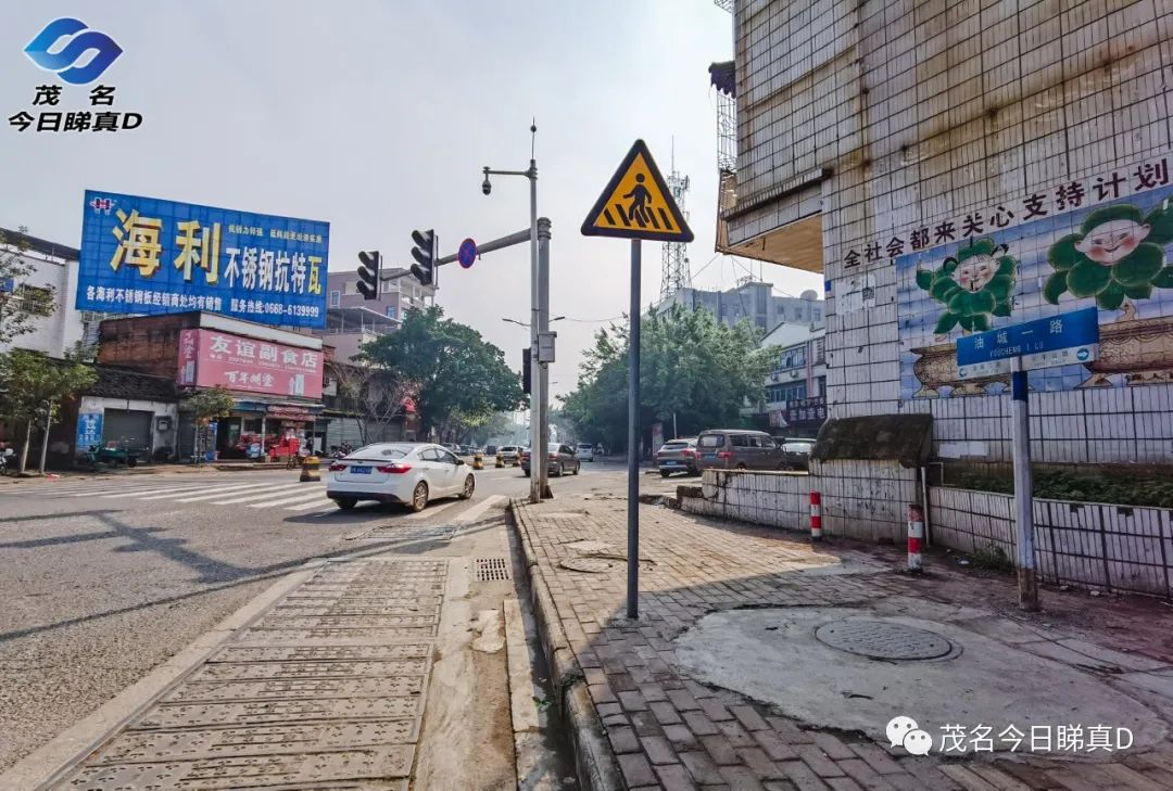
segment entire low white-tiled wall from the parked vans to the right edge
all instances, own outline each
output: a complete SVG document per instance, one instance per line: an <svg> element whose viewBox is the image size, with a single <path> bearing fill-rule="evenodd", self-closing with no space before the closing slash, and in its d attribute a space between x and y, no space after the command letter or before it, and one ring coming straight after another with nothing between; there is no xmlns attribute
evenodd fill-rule
<svg viewBox="0 0 1173 791"><path fill-rule="evenodd" d="M692 490L693 493L696 490ZM915 470L893 463L812 463L811 475L705 470L700 497L683 510L807 532L812 491L822 495L822 530L903 543L908 504L921 502ZM991 545L1016 555L1013 497L929 487L929 539L971 553ZM1173 598L1173 510L1035 500L1035 565L1052 585Z"/></svg>

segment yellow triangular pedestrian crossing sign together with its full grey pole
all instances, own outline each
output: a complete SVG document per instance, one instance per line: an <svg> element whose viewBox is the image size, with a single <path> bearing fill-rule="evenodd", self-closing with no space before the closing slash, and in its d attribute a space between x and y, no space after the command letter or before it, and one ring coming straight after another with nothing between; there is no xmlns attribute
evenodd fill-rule
<svg viewBox="0 0 1173 791"><path fill-rule="evenodd" d="M631 239L628 312L628 618L639 618L639 266L642 240L692 241L647 144L636 141L582 227L585 237Z"/></svg>

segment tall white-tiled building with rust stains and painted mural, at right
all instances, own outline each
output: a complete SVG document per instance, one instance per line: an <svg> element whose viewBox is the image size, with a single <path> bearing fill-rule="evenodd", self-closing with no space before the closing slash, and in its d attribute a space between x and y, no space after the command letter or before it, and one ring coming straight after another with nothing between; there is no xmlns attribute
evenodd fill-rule
<svg viewBox="0 0 1173 791"><path fill-rule="evenodd" d="M737 0L733 27L718 237L823 275L833 417L931 414L938 458L1008 462L1009 374L963 376L958 340L1091 307L1099 359L1030 373L1035 459L1173 462L1173 5Z"/></svg>

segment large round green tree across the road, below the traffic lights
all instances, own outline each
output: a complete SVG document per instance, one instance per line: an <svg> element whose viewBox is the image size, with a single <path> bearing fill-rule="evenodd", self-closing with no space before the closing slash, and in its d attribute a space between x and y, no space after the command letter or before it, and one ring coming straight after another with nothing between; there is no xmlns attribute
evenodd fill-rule
<svg viewBox="0 0 1173 791"><path fill-rule="evenodd" d="M475 427L526 403L504 352L472 327L445 319L440 307L409 311L398 332L366 343L355 360L415 400L425 436L432 429Z"/></svg>

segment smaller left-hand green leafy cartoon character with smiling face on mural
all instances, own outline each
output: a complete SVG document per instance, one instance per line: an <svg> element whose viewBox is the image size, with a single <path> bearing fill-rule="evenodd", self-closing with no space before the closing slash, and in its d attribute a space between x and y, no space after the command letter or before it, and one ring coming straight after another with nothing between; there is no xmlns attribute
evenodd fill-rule
<svg viewBox="0 0 1173 791"><path fill-rule="evenodd" d="M936 272L916 270L916 285L945 306L933 330L947 335L961 326L962 333L985 332L990 316L1009 316L1010 292L1015 288L1018 261L1009 247L994 239L978 239L947 258Z"/></svg>

